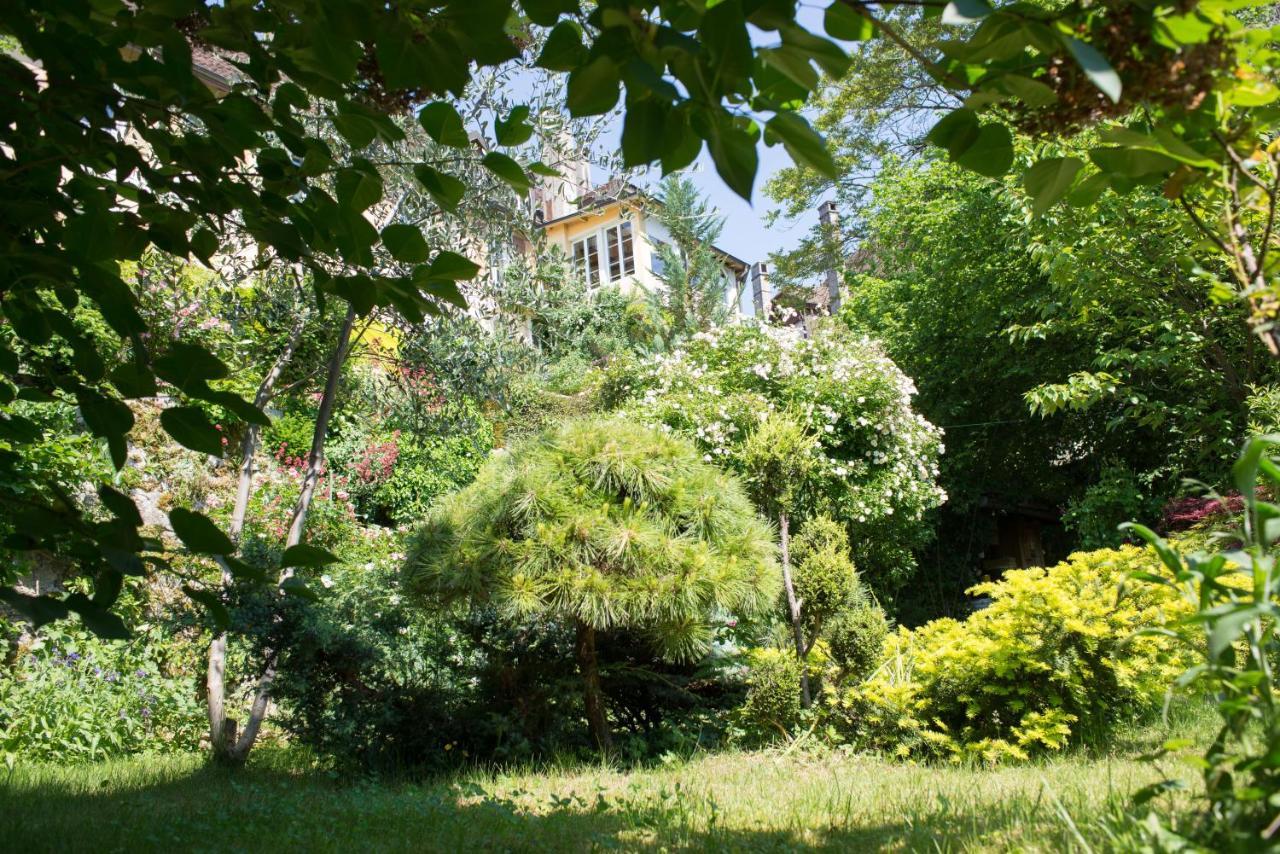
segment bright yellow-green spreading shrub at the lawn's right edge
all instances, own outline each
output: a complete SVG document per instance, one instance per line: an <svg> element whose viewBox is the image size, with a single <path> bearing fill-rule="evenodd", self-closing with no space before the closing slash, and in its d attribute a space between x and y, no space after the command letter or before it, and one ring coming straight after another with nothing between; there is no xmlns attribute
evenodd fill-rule
<svg viewBox="0 0 1280 854"><path fill-rule="evenodd" d="M1189 663L1169 638L1135 636L1181 611L1167 589L1129 584L1119 597L1130 572L1152 568L1151 552L1125 547L979 584L988 608L899 630L832 712L867 746L995 762L1149 709Z"/></svg>

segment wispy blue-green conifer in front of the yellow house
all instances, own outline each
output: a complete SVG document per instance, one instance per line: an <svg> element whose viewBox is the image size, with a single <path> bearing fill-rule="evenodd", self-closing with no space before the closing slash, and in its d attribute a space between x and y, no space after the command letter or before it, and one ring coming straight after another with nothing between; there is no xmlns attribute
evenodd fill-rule
<svg viewBox="0 0 1280 854"><path fill-rule="evenodd" d="M728 316L726 296L732 286L713 248L724 230L724 218L689 178L668 175L660 195L658 220L667 227L671 242L657 251L662 268L658 279L664 288L653 298L671 318L671 339L682 341Z"/></svg>

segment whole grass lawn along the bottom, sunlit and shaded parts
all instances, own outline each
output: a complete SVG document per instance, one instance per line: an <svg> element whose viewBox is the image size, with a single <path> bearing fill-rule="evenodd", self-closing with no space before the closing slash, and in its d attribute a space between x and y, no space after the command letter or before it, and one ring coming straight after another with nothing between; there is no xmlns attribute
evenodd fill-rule
<svg viewBox="0 0 1280 854"><path fill-rule="evenodd" d="M1210 725L1189 723L1197 735ZM238 773L196 755L19 764L6 781L0 771L0 848L1084 850L1105 848L1108 816L1158 778L1137 754L1166 737L1151 726L1108 750L1001 768L773 750L630 772L544 766L431 782L343 781L279 750L260 752Z"/></svg>

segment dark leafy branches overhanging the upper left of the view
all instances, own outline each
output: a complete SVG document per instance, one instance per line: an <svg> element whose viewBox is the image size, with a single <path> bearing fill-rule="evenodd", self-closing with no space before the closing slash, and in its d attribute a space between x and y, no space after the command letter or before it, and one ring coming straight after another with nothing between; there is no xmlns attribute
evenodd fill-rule
<svg viewBox="0 0 1280 854"><path fill-rule="evenodd" d="M164 428L197 451L221 452L204 403L266 423L228 388L230 371L206 348L160 348L150 338L120 262L152 246L205 264L228 248L260 266L298 264L317 298L346 301L360 316L385 307L416 319L461 302L457 282L474 275L475 265L449 245L428 245L407 223L379 230L365 214L397 204L384 200L379 169L406 164L397 150L410 118L451 150L408 161L440 207L466 195L451 169L463 154L516 193L527 192L530 172L512 154L530 138L530 111L513 105L495 115L495 145L477 151L452 101L476 68L509 64L530 44L540 44L538 65L568 74L573 117L609 113L626 86L626 165L660 161L671 172L707 143L726 182L750 196L760 127L768 142L826 161L820 138L791 109L805 88L753 61L748 22L788 36L794 44L783 52L792 68L842 68L833 42L805 37L792 15L737 0L704 10L653 4L637 15L617 12L531 0L518 9L509 0L5 6L0 35L17 42L18 55L0 56L0 97L13 108L0 128L0 312L36 350L0 350L0 406L19 394L37 407L74 403L116 467L133 426L125 401L161 388L178 403L166 410ZM529 37L535 28L545 41ZM696 51L676 46L694 44L690 33L701 42ZM196 74L193 54L216 55L230 69L228 79L210 88ZM99 339L79 323L86 316L110 330L125 364L108 370ZM40 348L50 341L73 351L74 361L45 357ZM0 412L0 438L19 451L42 435L40 419L13 407ZM100 490L106 515L87 512L56 484L33 479L20 457L0 455L0 502L18 531L6 547L72 560L93 593L29 597L6 576L0 598L37 625L74 612L95 631L125 634L110 611L123 576L163 566L163 544L142 536L137 508L118 490ZM236 544L205 516L187 512L175 525L184 545L230 558ZM236 575L262 576L225 562ZM214 608L214 599L205 602Z"/></svg>

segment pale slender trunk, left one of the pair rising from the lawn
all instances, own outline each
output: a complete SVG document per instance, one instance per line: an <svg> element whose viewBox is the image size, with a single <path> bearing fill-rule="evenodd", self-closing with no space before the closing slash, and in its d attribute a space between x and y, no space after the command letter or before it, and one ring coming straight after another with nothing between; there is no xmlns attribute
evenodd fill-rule
<svg viewBox="0 0 1280 854"><path fill-rule="evenodd" d="M284 369L293 360L293 353L302 341L302 332L307 324L307 314L300 312L297 321L289 330L289 338L284 350L275 359L275 364L262 378L253 396L253 406L262 408L275 393L275 384L279 382ZM247 425L244 438L241 440L239 479L236 484L236 503L232 507L232 520L228 526L228 536L233 543L239 543L241 533L244 530L244 516L248 512L248 499L253 492L253 457L257 455L257 442L261 428L257 424ZM223 570L223 590L232 584L230 568L223 558L218 558ZM227 631L214 634L209 643L209 667L205 675L205 688L209 702L209 740L212 745L214 757L225 761L232 745L236 743L236 721L227 720Z"/></svg>

